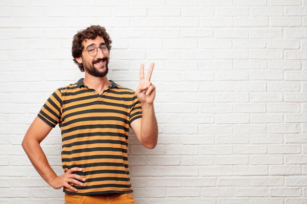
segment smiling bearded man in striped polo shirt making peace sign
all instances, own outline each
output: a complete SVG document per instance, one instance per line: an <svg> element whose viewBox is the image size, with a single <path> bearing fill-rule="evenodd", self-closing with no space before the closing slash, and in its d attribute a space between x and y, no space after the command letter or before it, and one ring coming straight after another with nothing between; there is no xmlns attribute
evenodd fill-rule
<svg viewBox="0 0 307 204"><path fill-rule="evenodd" d="M140 67L134 92L107 79L111 39L104 27L74 36L72 55L84 79L55 90L32 122L22 146L33 166L53 188L63 187L66 204L134 204L128 169L128 131L152 149L157 143L153 110L155 87ZM40 142L59 124L62 166L57 176Z"/></svg>

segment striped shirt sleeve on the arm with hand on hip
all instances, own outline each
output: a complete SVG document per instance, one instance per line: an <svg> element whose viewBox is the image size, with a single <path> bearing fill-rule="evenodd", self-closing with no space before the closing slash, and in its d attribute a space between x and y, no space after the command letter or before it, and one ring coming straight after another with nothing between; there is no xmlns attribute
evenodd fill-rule
<svg viewBox="0 0 307 204"><path fill-rule="evenodd" d="M57 89L48 98L37 116L54 128L61 120L61 103L61 92Z"/></svg>

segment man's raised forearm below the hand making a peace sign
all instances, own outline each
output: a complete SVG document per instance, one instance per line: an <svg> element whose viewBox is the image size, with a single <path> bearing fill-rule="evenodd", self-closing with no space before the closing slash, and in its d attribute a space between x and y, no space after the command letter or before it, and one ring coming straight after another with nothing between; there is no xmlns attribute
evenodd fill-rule
<svg viewBox="0 0 307 204"><path fill-rule="evenodd" d="M158 124L153 104L142 104L141 140L145 147L153 149L158 140Z"/></svg>

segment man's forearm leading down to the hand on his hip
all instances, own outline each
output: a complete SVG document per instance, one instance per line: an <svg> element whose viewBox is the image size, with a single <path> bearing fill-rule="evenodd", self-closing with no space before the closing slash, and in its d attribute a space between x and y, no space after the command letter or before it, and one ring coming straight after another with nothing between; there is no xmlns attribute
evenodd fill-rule
<svg viewBox="0 0 307 204"><path fill-rule="evenodd" d="M39 142L25 138L22 146L36 171L51 185L51 181L56 177L56 174L52 170Z"/></svg>

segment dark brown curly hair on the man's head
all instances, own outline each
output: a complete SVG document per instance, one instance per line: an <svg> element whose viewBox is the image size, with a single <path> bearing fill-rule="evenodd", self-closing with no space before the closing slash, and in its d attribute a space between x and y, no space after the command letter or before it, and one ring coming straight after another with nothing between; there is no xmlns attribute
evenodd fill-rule
<svg viewBox="0 0 307 204"><path fill-rule="evenodd" d="M107 45L108 50L111 50L111 43L112 40L110 36L107 34L104 27L100 25L91 25L90 27L85 28L84 30L80 30L73 38L73 45L72 45L72 55L74 57L74 62L77 64L81 71L84 71L83 65L78 63L76 58L81 57L82 50L84 49L82 42L86 39L95 39L97 36L103 38L105 44Z"/></svg>

